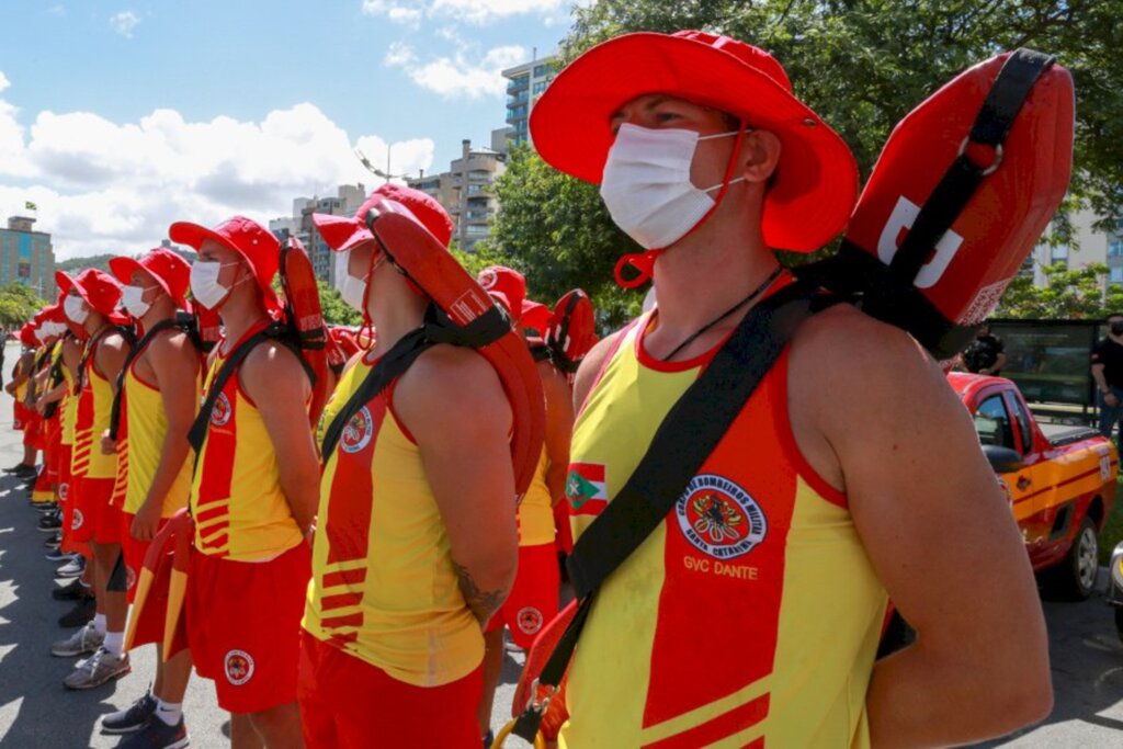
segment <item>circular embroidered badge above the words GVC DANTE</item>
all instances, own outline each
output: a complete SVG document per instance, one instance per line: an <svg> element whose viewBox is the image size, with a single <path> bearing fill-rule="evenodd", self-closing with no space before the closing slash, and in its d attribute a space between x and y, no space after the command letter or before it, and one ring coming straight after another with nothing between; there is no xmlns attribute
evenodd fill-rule
<svg viewBox="0 0 1123 749"><path fill-rule="evenodd" d="M768 520L748 492L723 476L702 474L675 504L683 536L718 559L748 554L768 533Z"/></svg>

